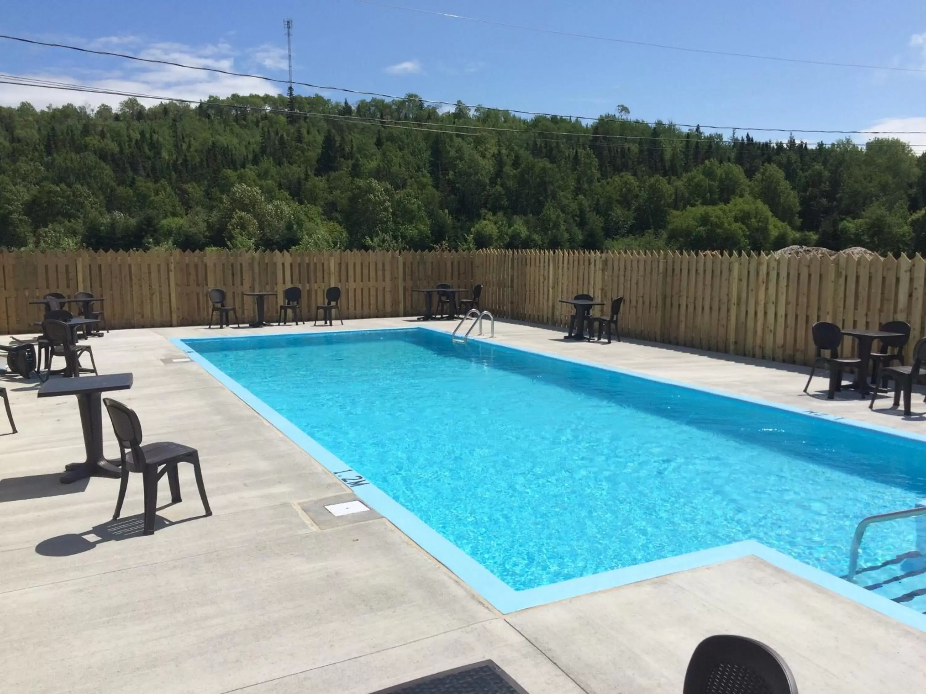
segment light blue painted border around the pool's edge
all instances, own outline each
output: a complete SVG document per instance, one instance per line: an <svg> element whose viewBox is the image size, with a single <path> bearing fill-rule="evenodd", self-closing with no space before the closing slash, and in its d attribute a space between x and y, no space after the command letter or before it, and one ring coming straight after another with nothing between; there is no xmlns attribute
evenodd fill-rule
<svg viewBox="0 0 926 694"><path fill-rule="evenodd" d="M446 334L444 330L439 328L431 328L429 326L396 326L394 328L390 327L373 329L317 329L313 332L270 333L269 335L230 335L222 336L220 338L170 338L169 340L174 345L176 345L182 353L186 354L199 366L202 366L213 378L216 378L219 383L231 390L235 395L243 400L244 403L247 403L255 412L257 412L258 415L263 416L267 421L269 421L270 424L280 429L280 431L282 431L283 434L293 440L296 445L298 445L309 455L319 461L321 465L324 465L330 472L332 472L332 474L335 474L342 481L344 481L344 477L357 477L359 476L359 473L353 471L349 465L344 464L340 458L322 446L317 440L312 439L304 431L297 428L292 422L290 422L284 416L280 415L267 403L264 403L262 400L260 400L250 390L247 390L244 388L244 386L214 366L211 362L208 361L208 359L206 359L206 357L197 353L192 347L190 347L187 342L203 340L240 340L255 337L269 338L280 335L285 335L288 337L320 336L324 334L344 334L359 332L370 333L381 332L382 330L416 329L431 330L432 332ZM644 378L646 380L665 383L689 390L700 390L702 392L711 393L720 397L732 398L734 400L741 400L747 403L765 405L767 407L775 407L780 410L795 412L799 415L812 415L823 419L830 419L850 427L868 428L891 436L899 436L901 438L926 442L926 436L921 436L919 434L913 434L906 431L899 431L893 428L881 427L879 425L860 422L854 419L827 415L825 413L819 413L813 410L807 410L781 403L770 403L768 401L759 400L757 398L751 398L722 390L699 388L691 384L671 381L667 378L658 378L627 369L595 364L594 362L588 362L582 359L575 359L558 354L544 353L538 350L516 347L509 344L502 344L500 342L491 342L491 344L494 348L497 349L507 349L514 350L516 352L537 354L540 356L549 357L551 359L560 359L562 361L572 362L582 366L591 366L594 368L605 369L607 371L615 371L636 378ZM401 504L394 502L392 498L390 498L385 492L376 487L372 482L369 482L369 480L364 481L365 483L360 486L351 487L351 490L357 494L359 499L368 503L369 506L385 516L390 522L394 524L395 527L398 527L409 538L413 539L424 551L427 551L437 561L439 561L441 564L444 564L444 566L446 566L450 571L452 571L460 579L467 583L471 589L482 595L482 598L484 598L486 601L489 601L500 613L507 614L517 612L518 610L535 607L547 602L574 598L576 596L584 595L586 593L591 593L598 590L617 588L629 583L635 583L637 581L646 580L648 578L656 578L657 576L666 576L680 571L685 571L687 569L697 568L699 566L719 564L720 562L727 562L732 559L738 559L745 556L756 556L765 560L766 562L769 562L770 564L778 566L784 571L794 574L795 576L800 576L810 581L811 583L815 583L825 589L830 589L833 592L848 598L849 600L856 601L865 605L866 607L869 607L872 610L875 610L876 612L890 616L896 619L898 622L902 622L907 626L912 626L914 628L920 629L920 631L926 632L926 614L917 613L915 610L904 607L903 605L888 600L887 598L884 598L876 593L872 593L870 590L866 590L860 586L849 583L842 578L832 576L832 574L827 574L825 571L821 571L820 569L810 566L809 564L799 562L787 554L782 553L781 551L773 550L770 547L767 547L766 545L763 545L762 543L752 539L744 540L741 542L733 542L729 545L713 547L708 550L693 551L675 557L668 557L666 559L659 559L654 562L647 562L645 564L637 564L635 566L613 569L611 571L605 571L600 574L594 574L592 576L571 578L566 581L560 581L559 583L554 583L548 586L541 586L539 588L515 590L507 586L507 584L490 573L485 567L482 566L482 564L479 564L474 559L469 557L469 555L464 551L458 549L457 546L452 542L444 539L444 537L434 531L431 527L427 526L425 523L419 520L418 516L409 512Z"/></svg>

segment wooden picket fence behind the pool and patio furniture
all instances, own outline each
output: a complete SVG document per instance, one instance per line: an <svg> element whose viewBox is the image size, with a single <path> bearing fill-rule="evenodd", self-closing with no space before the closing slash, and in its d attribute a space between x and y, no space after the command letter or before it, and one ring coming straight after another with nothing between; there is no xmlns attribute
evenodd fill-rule
<svg viewBox="0 0 926 694"><path fill-rule="evenodd" d="M411 316L421 311L412 290L441 281L482 283L495 316L552 326L569 321L561 298L623 296L621 331L632 338L795 364L812 358L818 320L844 328L907 320L911 344L926 334L920 255L569 251L0 253L0 332L34 330L42 310L29 302L50 291L106 297L112 328L156 328L204 324L209 287L224 288L244 322L255 310L244 291L277 291L282 301L283 289L298 286L311 307L337 285L345 317Z"/></svg>

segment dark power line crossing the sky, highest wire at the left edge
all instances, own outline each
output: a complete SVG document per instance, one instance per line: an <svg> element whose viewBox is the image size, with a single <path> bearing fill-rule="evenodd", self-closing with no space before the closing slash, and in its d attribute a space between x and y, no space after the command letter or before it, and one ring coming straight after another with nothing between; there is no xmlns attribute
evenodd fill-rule
<svg viewBox="0 0 926 694"><path fill-rule="evenodd" d="M369 2L369 0L357 0L357 2ZM409 9L412 9L412 8L409 8ZM428 10L417 10L417 11L426 12ZM20 43L31 43L33 45L41 45L41 46L46 46L49 48L62 48L62 49L67 49L71 51L79 51L81 53L94 54L96 56L119 57L119 58L123 58L126 60L135 60L135 61L142 62L142 63L153 63L156 65L169 65L175 68L194 69L194 70L201 70L204 72L216 72L221 75L228 75L231 77L247 77L247 78L252 78L255 80L263 80L263 81L275 82L279 84L292 83L292 84L298 84L299 86L303 86L303 87L309 87L311 89L318 89L321 91L351 93L351 94L357 94L358 96L374 96L374 97L379 97L382 99L392 99L392 100L398 100L398 101L402 101L407 98L407 94L405 96L399 96L397 94L388 94L388 93L381 93L381 92L365 92L365 91L357 90L357 89L348 89L346 87L334 87L334 86L327 86L327 85L322 85L322 84L313 84L312 82L303 82L303 81L290 82L286 80L278 80L276 78L268 77L266 75L257 75L257 74L252 74L248 72L234 72L232 70L225 70L221 68L208 68L206 66L201 66L201 65L187 65L187 64L179 63L173 60L162 60L159 58L146 58L142 56L132 56L126 53L99 51L99 50L95 50L92 48L82 48L81 46L69 45L67 43L49 43L49 42L44 42L44 41L35 41L33 39L26 39L21 36L10 36L7 34L0 34L0 39L6 39L8 41L18 41ZM563 118L564 120L565 119L569 119L569 120L575 119L575 120L588 121L588 122L614 122L614 123L624 122L622 118L605 118L602 116L571 116L571 115L567 116L567 115L557 114L557 113L547 113L544 111L525 111L525 110L521 110L517 108L499 108L495 106L483 106L483 105L470 106L470 105L466 105L458 101L441 101L439 99L424 99L421 97L418 97L418 98L423 104L447 105L447 106L464 105L464 106L467 106L468 108L475 107L475 108L480 108L485 111L507 112L511 114L518 114L520 116ZM655 126L655 127L674 126L676 128L704 128L706 130L741 130L745 132L789 132L789 133L801 133L801 134L827 134L827 135L926 135L926 130L812 130L812 129L806 129L806 128L744 128L742 126L730 126L730 125L700 125L700 124L670 123L670 122L666 123L666 122L662 122L658 120L656 121L654 120L633 120L632 122L643 123L644 125Z"/></svg>

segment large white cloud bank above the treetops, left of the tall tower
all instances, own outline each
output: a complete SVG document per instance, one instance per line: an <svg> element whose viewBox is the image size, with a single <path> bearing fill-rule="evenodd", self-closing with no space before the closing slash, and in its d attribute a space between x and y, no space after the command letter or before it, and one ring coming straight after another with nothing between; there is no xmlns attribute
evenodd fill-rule
<svg viewBox="0 0 926 694"><path fill-rule="evenodd" d="M169 60L203 68L218 68L234 72L255 71L257 65L274 67L276 56L269 45L258 46L245 52L236 52L225 42L189 46L183 43L147 43L133 36L109 36L85 44L96 46L134 45L133 55L156 60ZM285 56L285 52L283 52ZM242 58L243 65L236 65ZM283 64L285 67L285 63ZM171 65L119 61L117 69L103 71L78 68L44 68L31 71L25 77L33 79L82 84L116 92L147 93L165 99L191 99L198 101L208 96L230 96L232 93L281 93L282 85L251 77L235 77L205 70L178 68ZM30 102L37 108L47 105L119 105L126 97L109 94L68 92L43 87L3 85L0 105L19 105ZM156 104L159 99L141 99L145 105Z"/></svg>

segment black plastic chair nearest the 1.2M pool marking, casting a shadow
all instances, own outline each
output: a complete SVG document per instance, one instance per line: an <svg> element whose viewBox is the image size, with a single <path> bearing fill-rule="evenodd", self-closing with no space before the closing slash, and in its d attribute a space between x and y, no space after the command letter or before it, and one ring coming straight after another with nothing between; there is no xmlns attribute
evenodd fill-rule
<svg viewBox="0 0 926 694"><path fill-rule="evenodd" d="M199 498L203 502L206 515L212 515L209 501L206 499L206 488L203 486L203 473L199 468L199 452L189 446L172 441L158 441L142 445L142 424L138 415L130 407L110 398L104 398L106 412L113 423L116 440L119 441L119 457L122 460L122 475L119 481L119 498L116 500L116 512L113 520L119 518L122 511L122 502L125 500L125 490L129 486L129 474L142 473L144 485L144 535L153 535L155 532L155 513L157 510L157 482L164 473L168 475L170 485L170 501L180 503L180 475L177 473L178 463L191 463L196 476L196 487L199 489ZM158 471L159 469L159 471Z"/></svg>

